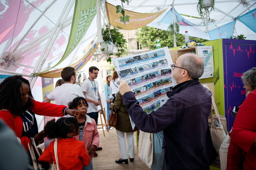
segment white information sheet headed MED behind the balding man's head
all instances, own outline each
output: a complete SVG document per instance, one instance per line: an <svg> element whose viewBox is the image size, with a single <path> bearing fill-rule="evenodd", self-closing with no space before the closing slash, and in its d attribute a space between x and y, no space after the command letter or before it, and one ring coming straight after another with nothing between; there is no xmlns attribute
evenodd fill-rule
<svg viewBox="0 0 256 170"><path fill-rule="evenodd" d="M212 46L197 46L197 54L204 62L204 74L199 78L213 77L213 51Z"/></svg>

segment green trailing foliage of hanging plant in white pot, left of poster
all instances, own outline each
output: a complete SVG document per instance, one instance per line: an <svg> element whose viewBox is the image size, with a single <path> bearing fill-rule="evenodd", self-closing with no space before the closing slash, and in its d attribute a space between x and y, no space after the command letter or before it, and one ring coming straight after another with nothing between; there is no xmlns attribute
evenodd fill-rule
<svg viewBox="0 0 256 170"><path fill-rule="evenodd" d="M123 38L124 37L123 34L121 34L116 28L110 29L108 25L106 25L106 29L101 29L101 32L102 32L102 38L104 42L106 42L107 44L110 44L110 41L112 41L113 44L116 45L117 47L116 55L120 57L120 55L122 55L122 53L125 52L124 49L126 48L125 46L126 40ZM104 51L104 49L101 49L101 50ZM113 55L113 53L109 55Z"/></svg>

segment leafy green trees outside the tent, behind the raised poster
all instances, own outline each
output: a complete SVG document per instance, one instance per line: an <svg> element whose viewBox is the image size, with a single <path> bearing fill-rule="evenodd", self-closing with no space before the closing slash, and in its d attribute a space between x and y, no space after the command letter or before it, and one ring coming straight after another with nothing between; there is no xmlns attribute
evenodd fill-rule
<svg viewBox="0 0 256 170"><path fill-rule="evenodd" d="M170 34L169 31L144 26L138 30L137 34L136 40L144 47L149 47L150 50L156 49L156 39L160 40L161 47L173 47L174 35ZM196 42L208 41L195 37L190 37L190 40L195 40ZM176 33L176 43L177 46L184 44L183 34Z"/></svg>

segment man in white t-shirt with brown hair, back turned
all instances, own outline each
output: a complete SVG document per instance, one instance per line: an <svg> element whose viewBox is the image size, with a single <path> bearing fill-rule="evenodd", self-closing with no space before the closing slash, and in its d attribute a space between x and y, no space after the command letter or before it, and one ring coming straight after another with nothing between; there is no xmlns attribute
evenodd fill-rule
<svg viewBox="0 0 256 170"><path fill-rule="evenodd" d="M76 85L76 72L73 67L65 67L61 71L61 78L64 84L56 87L50 94L48 94L43 102L55 101L57 105L68 106L76 97L84 97L83 90L79 85Z"/></svg>

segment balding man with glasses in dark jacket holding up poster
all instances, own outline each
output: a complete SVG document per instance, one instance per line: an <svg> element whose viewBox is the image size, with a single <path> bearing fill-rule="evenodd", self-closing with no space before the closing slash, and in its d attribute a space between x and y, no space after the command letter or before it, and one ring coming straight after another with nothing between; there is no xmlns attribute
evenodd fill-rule
<svg viewBox="0 0 256 170"><path fill-rule="evenodd" d="M198 79L203 74L204 63L198 55L186 53L171 67L178 85L167 92L168 101L150 114L139 106L124 80L119 91L140 130L150 133L163 130L166 169L209 169L214 152L208 126L212 94Z"/></svg>

